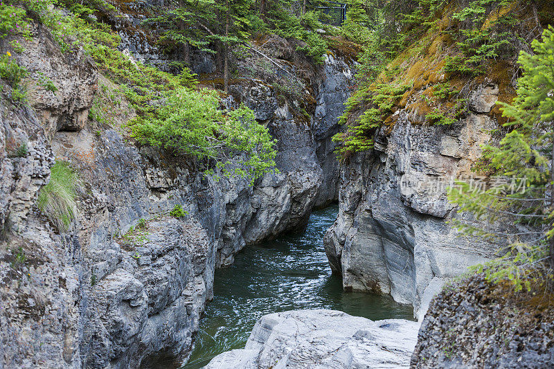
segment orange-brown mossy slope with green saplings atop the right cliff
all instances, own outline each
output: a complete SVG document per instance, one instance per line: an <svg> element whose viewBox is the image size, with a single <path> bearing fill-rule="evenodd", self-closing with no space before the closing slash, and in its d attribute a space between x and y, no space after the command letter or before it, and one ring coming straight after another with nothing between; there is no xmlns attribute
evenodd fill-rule
<svg viewBox="0 0 554 369"><path fill-rule="evenodd" d="M510 70L501 62L509 65L520 50L528 51L530 40L542 30L540 13L551 11L545 1L350 3L343 35L363 44L364 51L357 87L341 118L346 132L334 138L341 143L337 152L343 159L373 147L376 130L392 124L391 116L414 96L422 102L407 108L423 113L427 123L458 122L467 111L472 78L504 69L508 82L503 83L510 83Z"/></svg>

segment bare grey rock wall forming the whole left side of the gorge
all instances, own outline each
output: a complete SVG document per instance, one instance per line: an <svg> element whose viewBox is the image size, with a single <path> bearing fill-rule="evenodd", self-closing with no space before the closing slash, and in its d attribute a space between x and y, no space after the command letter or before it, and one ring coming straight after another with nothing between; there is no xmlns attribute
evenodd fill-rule
<svg viewBox="0 0 554 369"><path fill-rule="evenodd" d="M21 55L33 109L0 102L1 365L179 361L212 297L215 267L233 262L247 243L303 226L320 198L337 195L323 187L337 183L325 172L331 149L318 145L337 129L331 121L346 98L348 65L328 58L315 80L325 118L298 120L288 102L274 104L274 91L260 94L258 82L244 87L243 101L278 139L279 173L250 186L213 181L188 159L136 147L118 129L91 127L93 64L81 53L64 55L46 29L35 29L41 41L33 37ZM37 75L55 84L55 98L35 86ZM54 158L69 161L84 183L78 216L62 234L35 206ZM169 215L175 205L186 217Z"/></svg>

